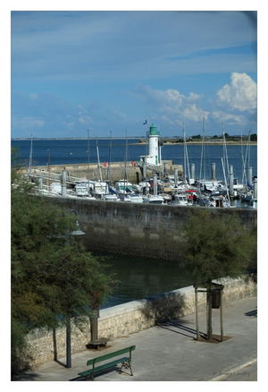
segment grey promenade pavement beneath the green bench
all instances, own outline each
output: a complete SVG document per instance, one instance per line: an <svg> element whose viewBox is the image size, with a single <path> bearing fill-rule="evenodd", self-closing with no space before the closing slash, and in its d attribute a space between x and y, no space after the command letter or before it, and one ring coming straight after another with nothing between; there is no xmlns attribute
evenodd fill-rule
<svg viewBox="0 0 268 392"><path fill-rule="evenodd" d="M244 298L223 307L223 334L230 339L214 344L196 341L196 316L191 314L107 344L103 350L72 354L71 369L65 358L47 362L36 371L21 374L17 381L83 381L89 358L136 345L132 353L134 376L118 368L96 376L98 381L256 381L257 298ZM199 329L205 333L205 311L200 311ZM220 335L220 310L213 310L213 332Z"/></svg>

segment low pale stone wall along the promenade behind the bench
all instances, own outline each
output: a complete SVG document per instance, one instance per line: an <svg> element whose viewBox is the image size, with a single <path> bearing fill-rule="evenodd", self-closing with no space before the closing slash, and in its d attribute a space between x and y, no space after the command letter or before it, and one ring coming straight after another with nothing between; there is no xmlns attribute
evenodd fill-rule
<svg viewBox="0 0 268 392"><path fill-rule="evenodd" d="M230 303L244 297L255 296L257 287L252 277L237 279L223 278L215 281L224 285L222 303ZM198 293L198 311L205 309L205 293ZM100 310L98 319L98 337L108 337L113 340L127 337L143 329L151 328L157 322L174 320L187 314L195 313L195 289L193 286L181 288L167 294L158 295L141 301L123 303ZM215 331L216 332L216 331ZM90 323L85 320L82 327L71 328L71 353L87 350L90 342ZM28 360L32 369L40 364L53 361L56 358L65 363L66 358L66 329L56 331L45 329L35 330L29 335ZM88 353L89 354L89 353Z"/></svg>

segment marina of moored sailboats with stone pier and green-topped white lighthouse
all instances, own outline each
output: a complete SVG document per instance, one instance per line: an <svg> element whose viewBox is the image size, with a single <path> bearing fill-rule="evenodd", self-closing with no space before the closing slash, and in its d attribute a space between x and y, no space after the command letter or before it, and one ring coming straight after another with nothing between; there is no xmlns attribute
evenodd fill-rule
<svg viewBox="0 0 268 392"><path fill-rule="evenodd" d="M196 168L196 163L190 162L185 133L184 141L182 165L163 158L163 143L154 124L147 132L147 145L138 159L129 159L130 146L126 138L125 159L121 162L112 161L112 140L110 145L106 144L108 159L105 162L100 160L96 142L97 162L90 162L88 140L88 163L51 165L48 150L46 166L34 166L31 144L29 166L23 171L29 175L30 181L38 185L38 191L47 196L173 206L257 208L257 176L253 174L250 161L250 138L246 151L243 153L241 149L243 165L240 181L235 175L236 167L229 162L224 138L220 162L219 159L217 165L211 162L209 174L205 145L202 145L200 163ZM217 175L219 163L221 178ZM239 200L239 203L234 200Z"/></svg>

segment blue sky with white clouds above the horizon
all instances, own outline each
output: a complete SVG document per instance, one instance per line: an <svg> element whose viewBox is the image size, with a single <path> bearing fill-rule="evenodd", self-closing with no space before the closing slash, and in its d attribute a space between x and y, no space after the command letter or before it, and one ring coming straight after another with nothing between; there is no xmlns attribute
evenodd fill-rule
<svg viewBox="0 0 268 392"><path fill-rule="evenodd" d="M257 132L257 15L236 11L11 14L19 137Z"/></svg>

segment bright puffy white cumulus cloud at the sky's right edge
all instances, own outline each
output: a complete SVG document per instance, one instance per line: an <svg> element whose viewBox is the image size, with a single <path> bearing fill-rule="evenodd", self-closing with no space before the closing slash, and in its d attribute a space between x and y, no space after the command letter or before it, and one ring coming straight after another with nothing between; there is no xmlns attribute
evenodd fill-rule
<svg viewBox="0 0 268 392"><path fill-rule="evenodd" d="M257 106L257 86L247 73L231 73L230 84L217 92L218 104L241 112L254 110Z"/></svg>

